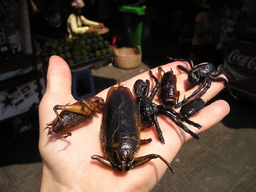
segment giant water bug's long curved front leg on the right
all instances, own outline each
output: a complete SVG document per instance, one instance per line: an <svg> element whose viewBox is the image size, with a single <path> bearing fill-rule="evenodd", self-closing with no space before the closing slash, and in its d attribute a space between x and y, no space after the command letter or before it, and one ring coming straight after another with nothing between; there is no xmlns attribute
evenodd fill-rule
<svg viewBox="0 0 256 192"><path fill-rule="evenodd" d="M166 161L162 156L156 155L156 154L149 154L146 156L141 156L141 157L135 158L134 161L132 162L132 169L134 167L138 167L140 165L148 163L151 159L156 159L156 158L160 158L169 167L171 172L174 173L174 170L173 170L171 164L169 164L168 161Z"/></svg>

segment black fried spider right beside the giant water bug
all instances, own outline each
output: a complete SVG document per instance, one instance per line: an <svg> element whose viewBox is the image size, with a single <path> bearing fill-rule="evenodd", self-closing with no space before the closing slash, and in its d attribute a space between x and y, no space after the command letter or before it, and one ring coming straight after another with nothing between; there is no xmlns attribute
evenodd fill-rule
<svg viewBox="0 0 256 192"><path fill-rule="evenodd" d="M136 96L136 102L139 105L140 108L140 118L141 121L152 124L156 126L156 133L159 138L159 140L164 143L164 137L163 133L160 129L160 126L157 121L157 116L158 115L164 115L169 117L176 125L178 125L181 129L183 129L185 132L189 133L192 137L195 139L199 139L200 136L197 135L196 133L192 132L186 125L181 123L177 117L179 117L181 120L185 121L186 123L193 125L194 127L197 127L200 129L202 126L188 120L188 118L180 115L177 113L173 108L166 107L164 105L157 105L152 102L154 96L156 95L156 92L160 86L160 83L158 79L152 74L152 71L149 71L149 75L155 80L156 85L153 88L151 94L148 97L149 93L149 80L147 79L146 82L139 79L135 82L133 89L135 92ZM175 117L177 116L177 117Z"/></svg>

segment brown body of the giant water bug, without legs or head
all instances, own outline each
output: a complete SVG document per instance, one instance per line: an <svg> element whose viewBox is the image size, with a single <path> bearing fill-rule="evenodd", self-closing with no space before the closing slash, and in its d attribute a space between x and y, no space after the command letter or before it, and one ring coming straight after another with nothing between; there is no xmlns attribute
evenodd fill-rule
<svg viewBox="0 0 256 192"><path fill-rule="evenodd" d="M140 150L140 110L129 90L112 86L108 91L101 126L105 156L113 165L132 162Z"/></svg>

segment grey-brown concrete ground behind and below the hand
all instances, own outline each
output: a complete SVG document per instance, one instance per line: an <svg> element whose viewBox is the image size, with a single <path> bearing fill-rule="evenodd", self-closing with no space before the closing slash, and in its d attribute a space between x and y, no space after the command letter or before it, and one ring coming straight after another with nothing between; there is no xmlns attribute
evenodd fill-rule
<svg viewBox="0 0 256 192"><path fill-rule="evenodd" d="M134 69L112 65L92 69L96 92L116 84L119 78L122 82L164 62L145 61ZM256 105L243 98L238 102L229 100L225 92L214 99L219 98L230 103L229 115L200 134L200 140L190 140L181 148L172 161L175 174L167 170L153 192L256 191ZM21 133L10 125L13 122L0 125L0 191L39 191L42 163L38 124L32 122L32 129Z"/></svg>

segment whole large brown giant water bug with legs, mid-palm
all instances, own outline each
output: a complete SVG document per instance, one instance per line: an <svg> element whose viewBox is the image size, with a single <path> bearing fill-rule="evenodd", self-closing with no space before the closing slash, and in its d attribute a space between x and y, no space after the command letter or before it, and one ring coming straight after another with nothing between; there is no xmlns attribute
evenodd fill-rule
<svg viewBox="0 0 256 192"><path fill-rule="evenodd" d="M93 155L92 159L126 173L134 167L160 158L174 173L172 166L156 154L136 157L140 145L148 144L152 139L141 140L140 132L149 128L140 124L140 109L131 91L124 86L112 86L108 91L100 128L102 148L105 157Z"/></svg>

